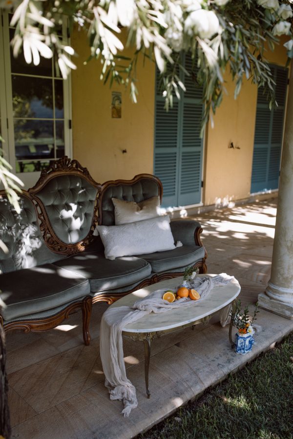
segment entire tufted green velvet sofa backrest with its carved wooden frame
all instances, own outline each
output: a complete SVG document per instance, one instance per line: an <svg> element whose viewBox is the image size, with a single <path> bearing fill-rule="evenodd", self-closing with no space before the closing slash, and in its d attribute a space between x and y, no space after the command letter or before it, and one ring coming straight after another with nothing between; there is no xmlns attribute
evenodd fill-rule
<svg viewBox="0 0 293 439"><path fill-rule="evenodd" d="M4 192L0 203L0 270L12 271L63 259L84 250L103 252L97 224L114 225L112 198L141 202L159 196L161 181L150 174L132 180L94 181L77 160L67 157L42 170L35 186L21 196L21 216L11 210Z"/></svg>

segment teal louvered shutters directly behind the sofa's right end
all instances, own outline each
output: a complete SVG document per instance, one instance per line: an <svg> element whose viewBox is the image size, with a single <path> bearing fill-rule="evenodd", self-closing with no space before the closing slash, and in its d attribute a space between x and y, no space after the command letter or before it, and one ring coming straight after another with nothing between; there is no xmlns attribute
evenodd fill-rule
<svg viewBox="0 0 293 439"><path fill-rule="evenodd" d="M163 183L165 207L196 204L201 200L203 140L199 138L203 111L202 88L195 87L190 55L182 55L190 76L180 72L186 86L168 112L156 83L154 172ZM157 75L158 78L158 75Z"/></svg>

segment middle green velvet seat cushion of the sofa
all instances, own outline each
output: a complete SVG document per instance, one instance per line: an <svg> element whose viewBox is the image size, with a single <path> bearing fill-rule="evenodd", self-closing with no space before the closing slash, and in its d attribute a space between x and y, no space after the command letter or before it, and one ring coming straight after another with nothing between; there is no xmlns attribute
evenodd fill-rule
<svg viewBox="0 0 293 439"><path fill-rule="evenodd" d="M69 256L56 262L56 265L87 278L93 293L138 282L151 272L150 265L143 259L127 256L108 260L98 252Z"/></svg>

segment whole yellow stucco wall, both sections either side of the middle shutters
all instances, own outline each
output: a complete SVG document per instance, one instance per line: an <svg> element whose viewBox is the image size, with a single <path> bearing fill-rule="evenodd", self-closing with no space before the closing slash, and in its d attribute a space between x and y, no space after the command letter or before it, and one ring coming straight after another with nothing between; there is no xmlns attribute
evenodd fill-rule
<svg viewBox="0 0 293 439"><path fill-rule="evenodd" d="M72 44L80 55L72 74L73 157L99 182L153 173L154 64L148 60L145 65L142 60L138 63L139 96L134 104L123 87L113 84L110 89L99 80L100 61L83 64L89 55L83 32L74 31ZM274 52L268 51L266 58L284 65L282 44ZM227 205L250 195L257 88L244 80L234 100L229 73L226 81L228 94L214 116L214 128L209 125L205 136L205 205ZM121 119L111 118L112 91L122 92ZM240 149L228 148L231 142ZM123 154L125 149L127 153Z"/></svg>

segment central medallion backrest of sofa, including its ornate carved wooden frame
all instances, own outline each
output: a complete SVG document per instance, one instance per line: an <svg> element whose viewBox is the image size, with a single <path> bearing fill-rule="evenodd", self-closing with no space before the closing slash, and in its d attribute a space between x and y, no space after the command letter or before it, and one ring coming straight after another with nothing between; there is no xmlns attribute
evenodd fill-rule
<svg viewBox="0 0 293 439"><path fill-rule="evenodd" d="M84 251L93 241L100 187L86 168L66 156L42 170L28 192L50 249L71 255Z"/></svg>

